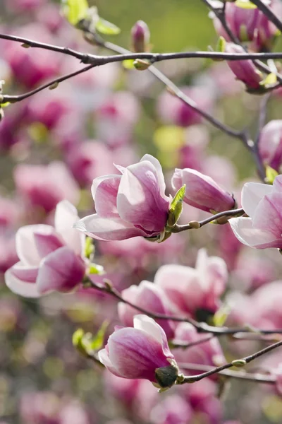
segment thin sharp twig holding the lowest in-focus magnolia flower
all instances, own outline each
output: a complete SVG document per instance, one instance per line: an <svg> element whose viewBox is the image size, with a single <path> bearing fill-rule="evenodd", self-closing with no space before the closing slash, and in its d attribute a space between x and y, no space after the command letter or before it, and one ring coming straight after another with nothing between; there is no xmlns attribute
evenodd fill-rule
<svg viewBox="0 0 282 424"><path fill-rule="evenodd" d="M181 384L198 382L205 377L209 377L210 375L217 374L217 373L219 373L223 370L227 370L228 368L231 368L231 367L234 367L234 366L235 367L244 366L247 363L252 362L252 360L257 359L260 356L265 355L266 353L269 353L269 352L273 351L274 349L276 349L280 346L282 346L282 341L278 341L278 342L272 344L271 346L267 346L267 348L264 348L261 351L258 351L256 353L252 353L252 355L245 356L245 358L233 360L232 362L221 365L220 367L212 368L212 370L203 372L202 374L185 376L185 377L183 377L183 381L181 382Z"/></svg>

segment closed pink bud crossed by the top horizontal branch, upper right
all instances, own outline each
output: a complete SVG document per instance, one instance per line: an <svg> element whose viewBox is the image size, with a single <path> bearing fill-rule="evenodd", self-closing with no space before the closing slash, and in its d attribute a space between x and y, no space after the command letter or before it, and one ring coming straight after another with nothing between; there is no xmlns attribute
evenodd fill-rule
<svg viewBox="0 0 282 424"><path fill-rule="evenodd" d="M245 50L243 47L235 45L232 42L226 42L225 52L244 54ZM232 60L227 61L227 64L231 71L234 73L235 77L245 83L247 89L262 89L260 83L262 83L264 77L251 60Z"/></svg>

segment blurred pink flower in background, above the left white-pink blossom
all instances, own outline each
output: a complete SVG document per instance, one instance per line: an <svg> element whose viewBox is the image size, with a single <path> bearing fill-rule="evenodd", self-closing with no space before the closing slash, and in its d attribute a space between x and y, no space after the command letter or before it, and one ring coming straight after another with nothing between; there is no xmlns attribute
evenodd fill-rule
<svg viewBox="0 0 282 424"><path fill-rule="evenodd" d="M63 199L78 203L78 184L62 162L54 161L49 165L20 164L14 171L14 178L23 199L47 213Z"/></svg>

